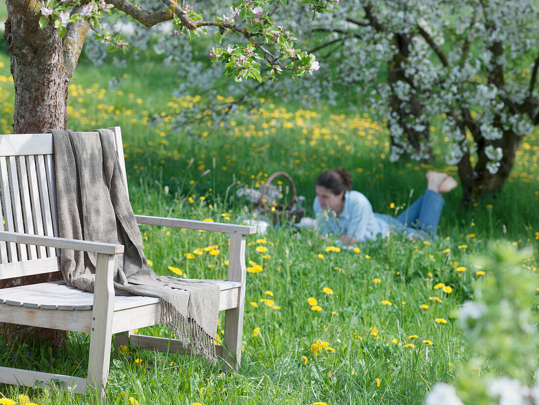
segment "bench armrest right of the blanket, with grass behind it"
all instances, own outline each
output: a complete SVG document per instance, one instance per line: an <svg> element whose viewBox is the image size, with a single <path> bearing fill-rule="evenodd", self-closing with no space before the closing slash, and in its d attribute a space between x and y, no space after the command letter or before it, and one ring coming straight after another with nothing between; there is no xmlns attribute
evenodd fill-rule
<svg viewBox="0 0 539 405"><path fill-rule="evenodd" d="M253 235L257 233L257 227L251 225L234 225L220 222L193 221L192 219L150 217L146 215L135 215L135 218L137 223L143 225L172 226L172 228L215 231L237 235Z"/></svg>

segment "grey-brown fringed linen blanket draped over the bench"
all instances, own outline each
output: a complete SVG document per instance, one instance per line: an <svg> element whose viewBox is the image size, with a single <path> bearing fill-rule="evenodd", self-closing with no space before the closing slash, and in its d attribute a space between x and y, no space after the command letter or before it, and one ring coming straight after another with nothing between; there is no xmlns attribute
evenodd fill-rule
<svg viewBox="0 0 539 405"><path fill-rule="evenodd" d="M50 133L59 236L124 245L124 253L115 257L115 293L159 298L161 323L174 328L183 345L215 363L219 286L202 280L158 276L148 268L112 131L98 129L95 136L54 129ZM61 250L64 280L80 290L93 292L95 264L96 253Z"/></svg>

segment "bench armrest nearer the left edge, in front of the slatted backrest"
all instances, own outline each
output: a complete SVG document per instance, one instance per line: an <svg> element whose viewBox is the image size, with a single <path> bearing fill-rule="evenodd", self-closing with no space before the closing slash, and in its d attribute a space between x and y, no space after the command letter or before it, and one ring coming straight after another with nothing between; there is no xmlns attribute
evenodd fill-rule
<svg viewBox="0 0 539 405"><path fill-rule="evenodd" d="M57 238L53 236L20 234L18 232L0 231L0 241L47 246L48 248L84 250L86 252L105 253L105 255L123 253L123 245L80 241L78 239Z"/></svg>

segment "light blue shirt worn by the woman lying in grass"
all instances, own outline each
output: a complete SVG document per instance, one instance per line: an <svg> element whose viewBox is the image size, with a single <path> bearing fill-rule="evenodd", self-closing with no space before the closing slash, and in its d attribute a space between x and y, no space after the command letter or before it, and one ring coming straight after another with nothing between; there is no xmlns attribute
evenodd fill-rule
<svg viewBox="0 0 539 405"><path fill-rule="evenodd" d="M385 237L389 233L384 215L372 211L372 205L359 191L344 193L344 207L338 217L331 210L322 210L318 198L313 203L314 214L320 234L348 235L357 242L375 241L376 235Z"/></svg>

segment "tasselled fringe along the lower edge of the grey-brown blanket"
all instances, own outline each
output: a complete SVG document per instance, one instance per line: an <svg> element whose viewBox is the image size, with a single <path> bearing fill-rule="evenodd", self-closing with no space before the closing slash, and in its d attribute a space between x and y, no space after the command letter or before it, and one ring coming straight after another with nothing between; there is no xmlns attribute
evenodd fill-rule
<svg viewBox="0 0 539 405"><path fill-rule="evenodd" d="M183 346L193 349L195 355L215 365L217 363L215 338L206 333L194 320L185 318L168 301L161 298L159 302L161 304L160 323L174 330Z"/></svg>

